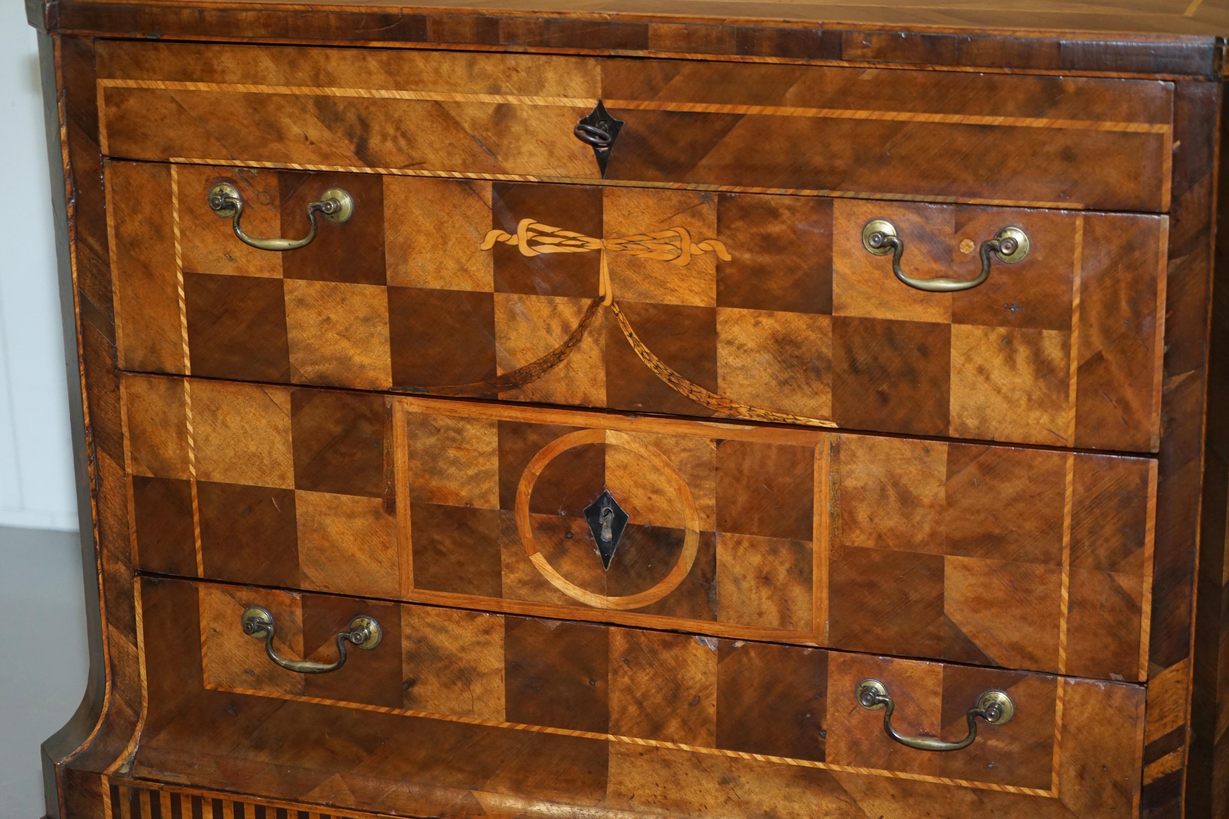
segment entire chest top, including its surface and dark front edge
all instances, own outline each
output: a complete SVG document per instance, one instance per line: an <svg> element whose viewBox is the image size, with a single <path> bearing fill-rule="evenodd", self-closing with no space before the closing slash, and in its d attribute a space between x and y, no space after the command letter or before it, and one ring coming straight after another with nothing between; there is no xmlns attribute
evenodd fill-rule
<svg viewBox="0 0 1229 819"><path fill-rule="evenodd" d="M1223 0L29 0L52 33L1219 79Z"/></svg>

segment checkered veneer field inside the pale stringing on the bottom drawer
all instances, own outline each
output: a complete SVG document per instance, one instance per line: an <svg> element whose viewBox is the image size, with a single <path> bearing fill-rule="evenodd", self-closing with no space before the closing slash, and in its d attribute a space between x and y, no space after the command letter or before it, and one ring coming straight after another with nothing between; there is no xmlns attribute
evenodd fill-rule
<svg viewBox="0 0 1229 819"><path fill-rule="evenodd" d="M1054 783L1062 683L1050 675L210 583L198 596L209 688L972 787L1047 793ZM331 674L294 674L237 626L251 604L273 614L284 656L332 659L338 624L355 614L375 618L383 640ZM964 736L968 704L987 688L1008 691L1018 717L970 754L908 754L869 729L880 713L854 705L866 677L909 691L902 731Z"/></svg>

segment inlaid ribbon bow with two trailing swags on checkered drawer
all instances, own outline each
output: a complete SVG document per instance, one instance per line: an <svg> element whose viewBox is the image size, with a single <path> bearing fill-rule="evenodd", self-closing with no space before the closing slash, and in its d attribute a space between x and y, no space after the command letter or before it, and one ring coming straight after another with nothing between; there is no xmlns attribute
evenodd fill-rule
<svg viewBox="0 0 1229 819"><path fill-rule="evenodd" d="M685 227L671 227L670 230L655 233L637 233L621 238L596 238L574 231L565 231L559 227L543 225L533 219L522 219L516 226L516 233L493 230L482 241L482 249L489 250L497 242L503 242L520 250L521 255L535 257L547 253L601 253L600 273L597 281L597 297L590 302L589 308L581 317L580 323L571 334L554 350L536 361L531 361L524 367L517 367L503 376L472 384L457 387L414 387L412 392L426 393L431 395L452 395L463 398L477 398L482 395L497 395L499 393L524 387L537 381L547 372L557 367L585 338L585 330L592 323L594 317L601 307L610 307L618 322L619 329L627 338L628 344L635 350L640 361L664 381L671 389L707 406L708 409L729 417L739 417L748 421L768 421L778 424L803 424L806 426L836 426L832 421L806 417L803 415L790 415L777 413L742 404L724 395L709 392L699 384L683 377L677 371L667 366L659 359L632 329L627 316L614 302L614 291L611 287L610 266L607 255L611 253L626 253L642 259L665 262L678 266L686 266L692 258L703 253L714 253L723 262L731 262L732 257L725 246L717 239L704 239L693 242L691 233Z"/></svg>

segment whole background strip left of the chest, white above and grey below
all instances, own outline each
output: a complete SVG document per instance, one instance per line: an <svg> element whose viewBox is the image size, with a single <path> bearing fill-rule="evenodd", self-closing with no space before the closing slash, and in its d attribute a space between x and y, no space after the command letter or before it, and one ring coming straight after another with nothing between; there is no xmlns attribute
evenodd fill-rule
<svg viewBox="0 0 1229 819"><path fill-rule="evenodd" d="M87 663L37 60L23 4L4 2L0 145L20 201L0 217L0 819L43 815L38 745L76 710Z"/></svg>

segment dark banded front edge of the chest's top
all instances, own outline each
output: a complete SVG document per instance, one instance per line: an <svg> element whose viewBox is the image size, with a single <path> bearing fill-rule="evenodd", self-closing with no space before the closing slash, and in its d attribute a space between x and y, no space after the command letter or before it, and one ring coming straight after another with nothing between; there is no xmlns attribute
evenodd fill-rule
<svg viewBox="0 0 1229 819"><path fill-rule="evenodd" d="M1214 79L1224 41L1058 31L857 26L805 20L474 9L27 0L48 33L804 60L912 69Z"/></svg>

